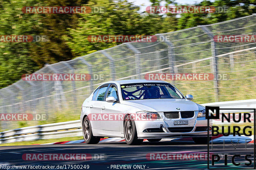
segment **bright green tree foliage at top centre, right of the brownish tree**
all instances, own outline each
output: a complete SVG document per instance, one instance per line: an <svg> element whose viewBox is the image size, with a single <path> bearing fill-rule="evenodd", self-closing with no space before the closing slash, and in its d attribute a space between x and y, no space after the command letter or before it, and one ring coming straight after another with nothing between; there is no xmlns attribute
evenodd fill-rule
<svg viewBox="0 0 256 170"><path fill-rule="evenodd" d="M126 0L91 0L89 6L103 6L105 13L79 14L77 27L66 36L72 54L81 56L120 43L90 42L89 35L154 35L163 28L163 18L155 14L138 13L139 7Z"/></svg>

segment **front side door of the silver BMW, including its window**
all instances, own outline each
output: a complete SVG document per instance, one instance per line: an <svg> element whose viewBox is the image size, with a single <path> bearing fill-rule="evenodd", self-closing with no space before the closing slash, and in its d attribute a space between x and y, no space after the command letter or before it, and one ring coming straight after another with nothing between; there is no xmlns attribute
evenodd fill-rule
<svg viewBox="0 0 256 170"><path fill-rule="evenodd" d="M114 84L111 84L108 88L108 92L106 95L107 97L115 97L118 101L118 92L117 87ZM118 124L118 111L120 107L119 102L110 103L106 101L102 102L101 108L101 117L102 117L102 128L104 130L111 130L111 131L120 131L119 124Z"/></svg>

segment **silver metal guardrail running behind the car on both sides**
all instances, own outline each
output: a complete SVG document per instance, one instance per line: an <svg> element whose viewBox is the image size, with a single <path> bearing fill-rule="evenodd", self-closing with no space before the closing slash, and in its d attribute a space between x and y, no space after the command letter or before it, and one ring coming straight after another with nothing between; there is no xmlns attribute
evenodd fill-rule
<svg viewBox="0 0 256 170"><path fill-rule="evenodd" d="M235 100L204 103L203 106L219 106L220 108L256 108L256 99ZM38 139L52 139L61 137L82 136L80 120L29 126L19 129L7 130L0 133L0 144L31 141Z"/></svg>

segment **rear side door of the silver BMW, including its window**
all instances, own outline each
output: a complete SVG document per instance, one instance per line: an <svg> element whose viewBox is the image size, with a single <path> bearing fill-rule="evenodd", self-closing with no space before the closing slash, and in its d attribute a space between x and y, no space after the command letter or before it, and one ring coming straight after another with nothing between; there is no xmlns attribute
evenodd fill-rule
<svg viewBox="0 0 256 170"><path fill-rule="evenodd" d="M100 86L99 89L94 92L95 94L93 94L92 100L89 103L90 119L92 128L94 129L102 129L99 115L101 115L101 105L102 102L104 102L107 89L108 84Z"/></svg>

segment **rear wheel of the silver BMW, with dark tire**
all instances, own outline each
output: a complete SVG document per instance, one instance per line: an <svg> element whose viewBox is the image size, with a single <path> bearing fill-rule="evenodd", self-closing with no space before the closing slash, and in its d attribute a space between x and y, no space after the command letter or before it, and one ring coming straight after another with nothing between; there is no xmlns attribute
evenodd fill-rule
<svg viewBox="0 0 256 170"><path fill-rule="evenodd" d="M83 122L83 137L86 144L98 144L100 142L100 137L92 135L92 126L88 117Z"/></svg>

